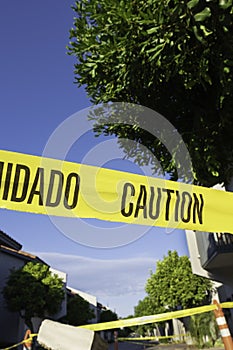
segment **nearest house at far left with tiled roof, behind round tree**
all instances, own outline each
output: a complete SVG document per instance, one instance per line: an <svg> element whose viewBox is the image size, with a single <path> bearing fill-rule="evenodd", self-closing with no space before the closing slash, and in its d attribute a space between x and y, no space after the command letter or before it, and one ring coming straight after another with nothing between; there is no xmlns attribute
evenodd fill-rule
<svg viewBox="0 0 233 350"><path fill-rule="evenodd" d="M33 261L37 263L46 264L39 257L24 252L22 245L16 242L13 238L0 230L0 344L15 344L21 341L25 333L25 324L20 315L16 312L8 311L6 303L2 294L2 290L8 280L8 277L12 269L19 269L27 262ZM46 264L48 265L48 264ZM52 270L54 273L58 273L56 270ZM61 272L60 276L63 277L64 288L66 283L65 275ZM19 291L20 293L20 291ZM61 312L55 315L54 319L58 319L62 315L66 314L66 302L62 304ZM35 319L35 326L39 326L41 320Z"/></svg>

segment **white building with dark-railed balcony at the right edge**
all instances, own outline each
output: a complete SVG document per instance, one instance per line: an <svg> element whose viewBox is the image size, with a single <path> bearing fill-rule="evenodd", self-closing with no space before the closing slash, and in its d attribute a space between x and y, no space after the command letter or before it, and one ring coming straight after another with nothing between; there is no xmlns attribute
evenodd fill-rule
<svg viewBox="0 0 233 350"><path fill-rule="evenodd" d="M219 185L214 188L224 190ZM214 281L215 299L233 301L233 235L187 230L186 239L193 273ZM224 313L233 335L233 310Z"/></svg>

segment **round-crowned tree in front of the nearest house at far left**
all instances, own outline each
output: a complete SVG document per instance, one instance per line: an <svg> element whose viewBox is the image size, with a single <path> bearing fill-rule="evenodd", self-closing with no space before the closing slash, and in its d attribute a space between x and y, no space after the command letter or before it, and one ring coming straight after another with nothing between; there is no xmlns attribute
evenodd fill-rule
<svg viewBox="0 0 233 350"><path fill-rule="evenodd" d="M33 332L32 317L43 318L60 310L64 298L63 282L51 273L49 266L29 262L11 271L3 295L8 309L19 312Z"/></svg>

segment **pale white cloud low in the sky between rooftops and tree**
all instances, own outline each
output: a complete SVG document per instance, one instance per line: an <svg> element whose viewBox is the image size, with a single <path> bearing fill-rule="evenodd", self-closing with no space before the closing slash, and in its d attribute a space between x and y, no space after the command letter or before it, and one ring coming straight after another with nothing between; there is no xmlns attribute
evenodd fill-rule
<svg viewBox="0 0 233 350"><path fill-rule="evenodd" d="M145 295L149 271L155 258L93 259L60 253L37 252L51 267L68 274L68 285L97 296L120 316L133 313L133 307Z"/></svg>

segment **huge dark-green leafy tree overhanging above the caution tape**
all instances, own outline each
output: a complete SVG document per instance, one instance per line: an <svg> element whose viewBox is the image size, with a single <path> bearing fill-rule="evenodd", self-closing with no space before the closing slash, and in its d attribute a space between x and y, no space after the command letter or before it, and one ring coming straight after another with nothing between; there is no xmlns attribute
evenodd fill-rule
<svg viewBox="0 0 233 350"><path fill-rule="evenodd" d="M232 0L78 0L69 53L76 81L94 103L141 104L182 135L196 183L229 184L233 175ZM142 129L99 132L145 144L177 177L168 151Z"/></svg>

